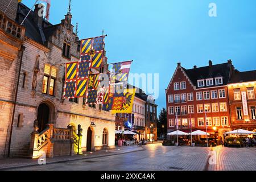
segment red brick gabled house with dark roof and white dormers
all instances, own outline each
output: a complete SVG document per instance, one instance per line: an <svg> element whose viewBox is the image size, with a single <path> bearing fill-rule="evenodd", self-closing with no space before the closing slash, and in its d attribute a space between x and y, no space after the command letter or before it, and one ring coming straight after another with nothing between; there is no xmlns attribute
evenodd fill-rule
<svg viewBox="0 0 256 182"><path fill-rule="evenodd" d="M185 69L177 64L166 89L167 130L176 130L176 114L179 130L202 130L212 136L222 137L230 130L228 81L232 73L232 61L207 67ZM206 121L206 122L205 122ZM214 130L215 129L215 130ZM214 136L214 137L215 137Z"/></svg>

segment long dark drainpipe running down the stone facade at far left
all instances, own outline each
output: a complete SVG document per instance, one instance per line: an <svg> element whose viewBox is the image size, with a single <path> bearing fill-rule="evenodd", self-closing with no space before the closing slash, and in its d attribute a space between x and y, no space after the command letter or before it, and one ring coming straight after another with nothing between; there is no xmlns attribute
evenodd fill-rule
<svg viewBox="0 0 256 182"><path fill-rule="evenodd" d="M14 100L14 106L13 106L13 117L11 118L11 130L10 130L10 138L9 138L9 146L8 146L8 157L9 158L10 158L10 152L11 152L11 136L13 134L13 123L14 123L16 102L17 102L18 90L19 90L20 71L21 71L21 67L22 67L23 52L24 52L25 48L26 47L23 44L20 47L21 57L20 57L20 61L19 61L18 80L17 80L17 85L16 85L16 91L15 91L15 100Z"/></svg>

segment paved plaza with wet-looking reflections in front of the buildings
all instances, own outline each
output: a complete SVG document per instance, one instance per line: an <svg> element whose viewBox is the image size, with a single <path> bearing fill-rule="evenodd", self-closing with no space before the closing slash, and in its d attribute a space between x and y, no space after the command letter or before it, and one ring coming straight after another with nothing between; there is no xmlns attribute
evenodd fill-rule
<svg viewBox="0 0 256 182"><path fill-rule="evenodd" d="M134 146L134 148L141 148ZM132 147L131 147L132 148ZM106 171L255 171L256 148L171 147L148 144L144 150L97 158L52 163L11 170Z"/></svg>

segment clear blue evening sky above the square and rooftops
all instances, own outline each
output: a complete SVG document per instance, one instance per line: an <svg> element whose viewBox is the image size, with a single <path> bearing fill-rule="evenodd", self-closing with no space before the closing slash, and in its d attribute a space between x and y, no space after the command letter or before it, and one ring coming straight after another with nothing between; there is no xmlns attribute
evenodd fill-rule
<svg viewBox="0 0 256 182"><path fill-rule="evenodd" d="M23 0L29 7L34 0ZM68 0L51 0L50 22L60 23ZM208 15L216 3L217 17ZM176 63L187 69L232 59L240 71L256 69L256 1L72 0L79 37L108 34L109 62L134 60L131 73L159 73L158 113Z"/></svg>

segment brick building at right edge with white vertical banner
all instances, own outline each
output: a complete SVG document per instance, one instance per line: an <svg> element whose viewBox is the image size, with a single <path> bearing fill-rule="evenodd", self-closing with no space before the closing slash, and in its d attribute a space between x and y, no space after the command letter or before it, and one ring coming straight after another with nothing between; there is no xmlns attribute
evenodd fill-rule
<svg viewBox="0 0 256 182"><path fill-rule="evenodd" d="M256 71L235 70L228 84L232 129L256 129Z"/></svg>

